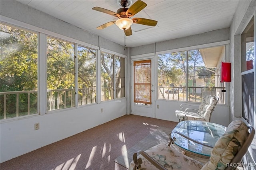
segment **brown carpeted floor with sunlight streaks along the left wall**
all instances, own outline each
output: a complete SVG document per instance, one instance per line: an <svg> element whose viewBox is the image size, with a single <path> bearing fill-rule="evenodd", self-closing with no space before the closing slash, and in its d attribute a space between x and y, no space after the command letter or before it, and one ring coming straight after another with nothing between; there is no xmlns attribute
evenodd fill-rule
<svg viewBox="0 0 256 170"><path fill-rule="evenodd" d="M171 131L176 125L176 122L171 121L125 115L3 162L0 169L127 170L114 162L116 158L128 153L130 148L157 132L159 127L166 127L170 129L167 131ZM159 132L161 133L161 130Z"/></svg>

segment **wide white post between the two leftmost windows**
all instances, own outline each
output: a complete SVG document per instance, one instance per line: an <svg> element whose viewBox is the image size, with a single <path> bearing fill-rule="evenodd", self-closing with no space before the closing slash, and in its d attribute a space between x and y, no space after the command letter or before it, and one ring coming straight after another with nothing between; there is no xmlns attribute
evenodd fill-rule
<svg viewBox="0 0 256 170"><path fill-rule="evenodd" d="M47 112L47 40L43 33L38 37L38 113L44 115Z"/></svg>

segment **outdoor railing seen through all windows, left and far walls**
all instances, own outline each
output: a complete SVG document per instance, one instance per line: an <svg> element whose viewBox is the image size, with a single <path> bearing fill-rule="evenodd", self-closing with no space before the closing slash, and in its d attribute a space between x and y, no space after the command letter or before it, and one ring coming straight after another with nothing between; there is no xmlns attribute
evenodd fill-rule
<svg viewBox="0 0 256 170"><path fill-rule="evenodd" d="M188 101L200 102L205 95L217 95L225 104L222 87L188 87ZM102 99L113 97L112 88L102 90ZM120 90L122 91L122 90ZM0 92L0 119L37 113L37 91ZM158 87L158 99L186 101L186 87ZM96 103L96 87L78 89L78 106ZM75 106L74 89L47 90L47 111Z"/></svg>

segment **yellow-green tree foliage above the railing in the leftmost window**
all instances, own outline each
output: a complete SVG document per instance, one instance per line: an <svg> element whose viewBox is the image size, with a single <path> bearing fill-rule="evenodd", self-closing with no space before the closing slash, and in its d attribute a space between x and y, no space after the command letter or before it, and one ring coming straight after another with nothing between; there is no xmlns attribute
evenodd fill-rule
<svg viewBox="0 0 256 170"><path fill-rule="evenodd" d="M0 24L0 91L37 90L37 34Z"/></svg>

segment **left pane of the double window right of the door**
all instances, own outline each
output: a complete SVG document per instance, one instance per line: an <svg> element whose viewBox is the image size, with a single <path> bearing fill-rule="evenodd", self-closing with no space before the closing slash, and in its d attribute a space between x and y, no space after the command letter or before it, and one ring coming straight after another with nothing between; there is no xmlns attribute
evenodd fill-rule
<svg viewBox="0 0 256 170"><path fill-rule="evenodd" d="M158 99L186 100L186 51L158 55Z"/></svg>

